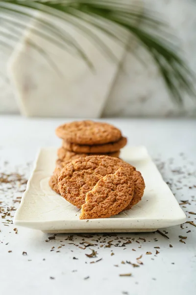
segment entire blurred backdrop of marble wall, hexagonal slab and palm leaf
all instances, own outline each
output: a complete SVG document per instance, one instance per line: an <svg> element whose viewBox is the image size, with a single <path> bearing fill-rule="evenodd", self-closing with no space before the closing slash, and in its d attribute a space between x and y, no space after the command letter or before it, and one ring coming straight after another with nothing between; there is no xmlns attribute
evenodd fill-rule
<svg viewBox="0 0 196 295"><path fill-rule="evenodd" d="M0 114L196 117L195 0L0 0Z"/></svg>

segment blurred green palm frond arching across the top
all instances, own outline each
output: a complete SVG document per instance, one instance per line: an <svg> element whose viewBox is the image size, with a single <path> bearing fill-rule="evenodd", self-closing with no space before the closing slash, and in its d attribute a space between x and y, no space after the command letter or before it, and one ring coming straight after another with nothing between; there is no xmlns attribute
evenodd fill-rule
<svg viewBox="0 0 196 295"><path fill-rule="evenodd" d="M0 0L0 13L5 24L23 30L27 19L32 18L37 11L42 12L46 17L38 19L42 24L41 28L32 28L31 24L28 25L33 32L63 50L76 52L91 68L92 61L69 32L58 25L59 20L71 24L94 42L107 58L115 62L118 60L113 48L102 41L95 28L126 47L127 34L133 35L154 60L174 101L182 104L184 93L196 95L193 87L195 75L177 53L179 48L173 42L170 29L159 18L154 17L153 12L141 12L138 5L124 3L121 0ZM58 21L54 22L55 19ZM3 36L2 30L0 36ZM7 39L9 37L7 36ZM33 41L30 45L37 48L54 66L46 51ZM131 50L131 47L127 48Z"/></svg>

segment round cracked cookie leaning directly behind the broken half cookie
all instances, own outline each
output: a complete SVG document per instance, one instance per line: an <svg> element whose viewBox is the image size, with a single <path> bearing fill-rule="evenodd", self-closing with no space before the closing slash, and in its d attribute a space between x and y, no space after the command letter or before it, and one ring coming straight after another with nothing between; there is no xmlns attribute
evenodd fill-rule
<svg viewBox="0 0 196 295"><path fill-rule="evenodd" d="M58 177L60 194L74 206L81 208L86 193L93 189L98 180L114 174L120 167L128 169L129 175L135 168L119 158L105 155L78 158L66 165Z"/></svg>

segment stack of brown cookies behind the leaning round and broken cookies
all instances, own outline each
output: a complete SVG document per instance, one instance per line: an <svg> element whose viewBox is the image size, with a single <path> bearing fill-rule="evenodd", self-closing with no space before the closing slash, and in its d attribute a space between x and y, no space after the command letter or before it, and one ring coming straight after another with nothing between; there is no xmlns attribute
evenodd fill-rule
<svg viewBox="0 0 196 295"><path fill-rule="evenodd" d="M74 121L56 128L56 135L63 140L58 149L56 168L49 180L50 187L57 193L57 178L61 169L79 157L108 155L119 157L120 149L126 145L126 138L113 125L91 120Z"/></svg>

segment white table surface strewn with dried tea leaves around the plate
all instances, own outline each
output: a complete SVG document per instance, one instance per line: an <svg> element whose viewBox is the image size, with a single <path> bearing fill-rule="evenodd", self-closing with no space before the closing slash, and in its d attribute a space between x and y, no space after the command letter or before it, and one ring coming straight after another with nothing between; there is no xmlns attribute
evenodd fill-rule
<svg viewBox="0 0 196 295"><path fill-rule="evenodd" d="M19 172L28 177L32 169L29 163L33 162L38 148L60 146L61 142L55 136L54 129L65 121L1 116L0 173ZM180 200L189 200L190 205L181 207L188 220L196 223L196 215L188 213L196 212L196 120L104 121L121 128L128 137L129 145L147 147L164 179L170 182L179 203L182 203ZM11 189L9 186L9 183L0 183L1 207L5 204L8 207L19 205L13 202L22 195L21 188L17 184ZM67 239L71 235L57 235L55 239L46 242L51 235L20 227L18 234L15 234L11 222L8 221L7 226L2 223L6 219L11 220L12 217L0 218L0 294L196 294L196 227L191 224L184 224L182 228L175 226L162 229L162 232L168 232L169 239L159 233L117 234L117 240L114 240L117 236L99 234L81 237L74 234L70 237L73 241ZM186 233L189 230L191 232ZM186 244L179 241L180 235L187 236L184 239ZM145 238L146 242L140 237ZM126 238L132 243L119 247ZM79 246L84 247L79 244L83 242L82 239L98 245L80 249ZM98 242L95 241L97 239ZM110 240L114 240L112 243L119 240L119 246L105 247ZM57 249L61 244L65 246ZM100 247L101 244L104 246ZM157 246L160 249L154 248ZM50 251L52 247L55 247L54 251ZM98 252L97 258L85 255L91 253L90 248ZM10 250L12 252L8 252ZM156 250L160 253L154 256ZM24 251L27 255L23 255ZM114 255L111 255L112 252ZM147 255L146 252L152 254ZM136 263L136 258L140 255L143 255L143 265L133 267L126 263ZM90 263L101 258L97 263ZM132 273L132 276L119 276L123 273Z"/></svg>

